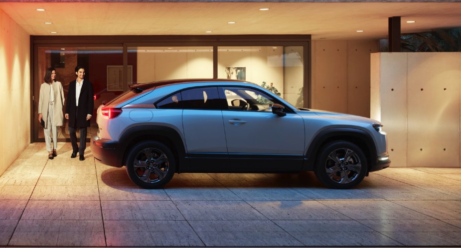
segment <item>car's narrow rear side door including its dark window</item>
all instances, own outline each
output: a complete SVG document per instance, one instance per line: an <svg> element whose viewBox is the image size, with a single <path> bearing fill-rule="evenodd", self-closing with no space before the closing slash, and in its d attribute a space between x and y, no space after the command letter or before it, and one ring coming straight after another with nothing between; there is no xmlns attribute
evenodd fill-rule
<svg viewBox="0 0 461 248"><path fill-rule="evenodd" d="M227 144L216 87L181 92L182 124L192 170L223 171Z"/></svg>

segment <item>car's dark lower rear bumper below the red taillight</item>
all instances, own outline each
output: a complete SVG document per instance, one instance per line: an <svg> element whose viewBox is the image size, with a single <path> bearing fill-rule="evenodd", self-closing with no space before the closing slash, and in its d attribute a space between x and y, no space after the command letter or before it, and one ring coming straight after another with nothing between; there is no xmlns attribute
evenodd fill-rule
<svg viewBox="0 0 461 248"><path fill-rule="evenodd" d="M124 152L119 142L93 136L91 137L90 147L94 158L101 161L101 163L114 167L123 166Z"/></svg>

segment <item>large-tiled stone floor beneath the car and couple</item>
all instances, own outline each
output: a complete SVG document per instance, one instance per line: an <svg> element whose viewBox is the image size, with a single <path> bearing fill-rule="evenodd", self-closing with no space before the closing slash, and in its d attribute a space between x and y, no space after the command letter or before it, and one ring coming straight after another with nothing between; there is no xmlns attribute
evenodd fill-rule
<svg viewBox="0 0 461 248"><path fill-rule="evenodd" d="M350 190L309 172L176 174L145 190L90 149L70 154L33 143L1 175L0 247L461 244L461 168L391 167Z"/></svg>

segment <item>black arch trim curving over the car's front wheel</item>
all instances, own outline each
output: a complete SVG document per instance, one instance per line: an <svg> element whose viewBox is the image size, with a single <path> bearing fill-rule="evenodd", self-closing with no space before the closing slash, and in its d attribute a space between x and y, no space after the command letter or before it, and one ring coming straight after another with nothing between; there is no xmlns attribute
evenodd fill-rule
<svg viewBox="0 0 461 248"><path fill-rule="evenodd" d="M350 141L362 148L367 157L367 171L377 162L378 154L376 153L376 144L368 132L351 127L331 127L319 131L310 142L307 148L306 163L303 170L314 169L315 159L319 149L322 145L332 140Z"/></svg>

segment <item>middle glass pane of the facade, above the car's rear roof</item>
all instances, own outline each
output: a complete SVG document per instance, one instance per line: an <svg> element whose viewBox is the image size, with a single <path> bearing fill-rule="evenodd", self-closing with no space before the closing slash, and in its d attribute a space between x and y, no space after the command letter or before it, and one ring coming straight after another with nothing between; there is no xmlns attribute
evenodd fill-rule
<svg viewBox="0 0 461 248"><path fill-rule="evenodd" d="M213 47L129 47L136 57L137 83L213 78Z"/></svg>

